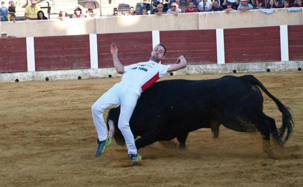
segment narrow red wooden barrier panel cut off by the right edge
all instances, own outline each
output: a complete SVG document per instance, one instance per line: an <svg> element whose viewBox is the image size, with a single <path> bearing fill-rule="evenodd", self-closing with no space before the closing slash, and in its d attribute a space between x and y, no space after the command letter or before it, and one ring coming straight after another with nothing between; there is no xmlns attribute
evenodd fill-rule
<svg viewBox="0 0 303 187"><path fill-rule="evenodd" d="M303 60L303 25L288 26L289 60Z"/></svg>

